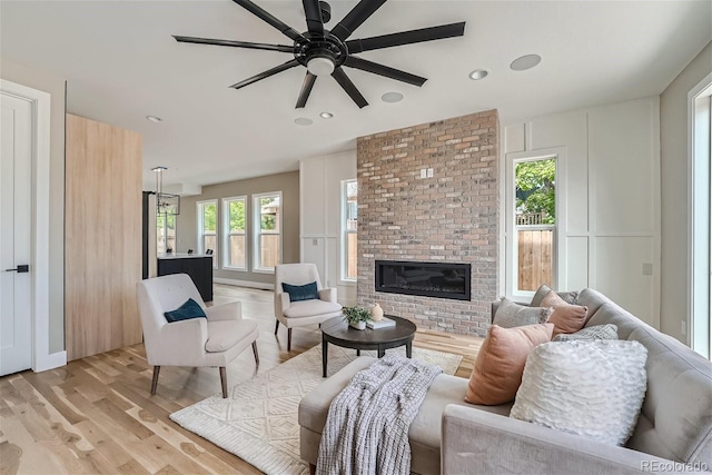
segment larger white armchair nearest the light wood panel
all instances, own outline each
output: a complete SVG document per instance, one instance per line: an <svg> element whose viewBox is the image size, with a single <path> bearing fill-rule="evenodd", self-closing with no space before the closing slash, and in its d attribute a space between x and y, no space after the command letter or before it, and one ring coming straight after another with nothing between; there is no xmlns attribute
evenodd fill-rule
<svg viewBox="0 0 712 475"><path fill-rule="evenodd" d="M151 394L156 394L161 366L217 366L222 397L227 397L227 364L251 344L259 365L257 323L243 319L239 301L206 307L187 274L146 279L136 288L146 356L154 366ZM164 313L175 310L188 298L202 307L207 318L168 323Z"/></svg>

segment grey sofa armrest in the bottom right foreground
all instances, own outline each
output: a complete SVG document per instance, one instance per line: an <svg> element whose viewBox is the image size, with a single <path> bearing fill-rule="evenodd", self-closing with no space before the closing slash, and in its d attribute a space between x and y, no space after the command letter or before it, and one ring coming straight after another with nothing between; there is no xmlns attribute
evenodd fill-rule
<svg viewBox="0 0 712 475"><path fill-rule="evenodd" d="M444 474L641 473L671 461L590 441L485 410L448 405L443 413Z"/></svg>

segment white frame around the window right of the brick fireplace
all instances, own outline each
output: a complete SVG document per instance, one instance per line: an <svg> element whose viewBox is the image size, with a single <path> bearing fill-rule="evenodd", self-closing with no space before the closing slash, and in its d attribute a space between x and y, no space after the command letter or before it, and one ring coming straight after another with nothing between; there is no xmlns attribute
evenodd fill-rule
<svg viewBox="0 0 712 475"><path fill-rule="evenodd" d="M563 229L566 229L566 196L565 182L566 176L566 149L564 147L554 147L515 154L506 154L505 164L505 295L514 301L526 303L532 301L535 291L518 290L518 239L515 229L515 166L524 161L537 161L554 159L556 160L556 224L554 226L554 236L552 244L552 286L558 289L560 284L566 283L566 256L563 253L564 246L562 238ZM561 289L558 289L561 290ZM565 290L565 289L564 289Z"/></svg>

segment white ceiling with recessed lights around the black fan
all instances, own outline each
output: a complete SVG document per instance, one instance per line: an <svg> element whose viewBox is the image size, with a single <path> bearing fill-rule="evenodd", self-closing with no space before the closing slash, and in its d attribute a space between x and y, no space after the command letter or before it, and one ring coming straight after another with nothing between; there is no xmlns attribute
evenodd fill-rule
<svg viewBox="0 0 712 475"><path fill-rule="evenodd" d="M300 1L255 1L306 30ZM327 29L356 1L330 3ZM347 69L370 103L360 110L332 78L296 110L301 67L230 89L290 55L171 37L291 43L230 0L2 0L0 46L3 58L67 79L69 112L139 131L145 189L158 165L169 168L166 185L189 187L296 170L300 159L355 149L359 136L486 109L507 122L659 95L712 39L712 1L390 0L349 39L457 21L467 21L464 37L360 53L428 78L417 88ZM538 67L508 68L528 53L542 56ZM468 79L477 68L490 76ZM383 102L388 91L405 99Z"/></svg>

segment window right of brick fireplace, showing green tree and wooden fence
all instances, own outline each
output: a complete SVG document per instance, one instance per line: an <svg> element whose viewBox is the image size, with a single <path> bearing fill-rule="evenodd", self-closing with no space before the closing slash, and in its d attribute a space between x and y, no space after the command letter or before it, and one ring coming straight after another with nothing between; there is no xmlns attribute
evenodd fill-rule
<svg viewBox="0 0 712 475"><path fill-rule="evenodd" d="M507 190L507 294L556 288L556 156L515 158Z"/></svg>

